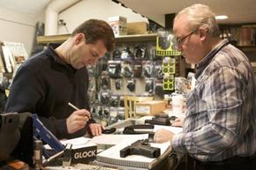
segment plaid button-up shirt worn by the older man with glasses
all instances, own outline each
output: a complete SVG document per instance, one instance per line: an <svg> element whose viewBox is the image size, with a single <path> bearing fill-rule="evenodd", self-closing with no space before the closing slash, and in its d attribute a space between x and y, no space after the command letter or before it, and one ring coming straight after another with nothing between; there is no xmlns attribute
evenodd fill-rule
<svg viewBox="0 0 256 170"><path fill-rule="evenodd" d="M256 89L252 65L223 40L196 69L183 133L172 148L201 161L250 156L256 150Z"/></svg>

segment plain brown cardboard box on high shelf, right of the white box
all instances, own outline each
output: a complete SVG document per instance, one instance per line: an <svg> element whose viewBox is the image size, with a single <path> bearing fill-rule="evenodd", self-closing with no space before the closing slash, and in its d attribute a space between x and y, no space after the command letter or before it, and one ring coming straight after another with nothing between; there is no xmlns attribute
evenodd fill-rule
<svg viewBox="0 0 256 170"><path fill-rule="evenodd" d="M127 23L128 34L145 34L147 33L147 22L131 22Z"/></svg>

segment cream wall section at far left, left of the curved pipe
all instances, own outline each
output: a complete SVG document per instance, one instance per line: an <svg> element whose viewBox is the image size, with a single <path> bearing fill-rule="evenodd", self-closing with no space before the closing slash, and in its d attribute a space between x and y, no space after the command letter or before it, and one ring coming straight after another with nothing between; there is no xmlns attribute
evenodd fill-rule
<svg viewBox="0 0 256 170"><path fill-rule="evenodd" d="M0 8L0 41L23 43L30 55L34 41L34 26L44 20L44 12L34 16Z"/></svg>

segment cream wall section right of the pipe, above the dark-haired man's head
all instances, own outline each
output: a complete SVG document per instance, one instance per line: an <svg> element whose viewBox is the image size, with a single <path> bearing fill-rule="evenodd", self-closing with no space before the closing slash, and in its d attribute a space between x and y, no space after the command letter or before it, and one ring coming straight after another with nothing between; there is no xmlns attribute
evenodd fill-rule
<svg viewBox="0 0 256 170"><path fill-rule="evenodd" d="M72 33L72 30L89 18L99 18L108 21L109 17L122 16L127 22L148 22L139 13L125 8L110 0L87 0L74 4L71 8L61 12L59 19L63 19L65 26L58 27L58 34Z"/></svg>

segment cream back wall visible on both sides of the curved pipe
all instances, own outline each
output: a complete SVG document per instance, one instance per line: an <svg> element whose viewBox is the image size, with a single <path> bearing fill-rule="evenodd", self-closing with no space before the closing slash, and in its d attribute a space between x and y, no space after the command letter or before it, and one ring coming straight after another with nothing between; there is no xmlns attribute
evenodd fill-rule
<svg viewBox="0 0 256 170"><path fill-rule="evenodd" d="M28 55L31 54L34 41L34 27L37 22L44 22L45 10L36 16L18 11L0 8L0 41L23 43ZM87 0L74 4L62 11L59 19L64 19L65 26L58 26L58 34L72 33L72 30L88 18L108 21L109 17L123 16L127 22L148 22L138 13L109 0Z"/></svg>

